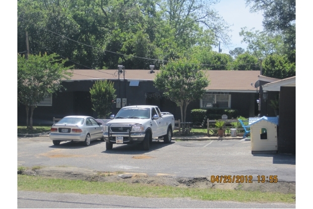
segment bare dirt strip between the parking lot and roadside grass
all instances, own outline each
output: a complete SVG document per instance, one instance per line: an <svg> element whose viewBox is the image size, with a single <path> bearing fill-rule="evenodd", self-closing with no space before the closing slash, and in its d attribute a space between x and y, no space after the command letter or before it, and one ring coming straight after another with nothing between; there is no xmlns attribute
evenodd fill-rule
<svg viewBox="0 0 313 209"><path fill-rule="evenodd" d="M130 174L131 177L122 178L122 173L125 175ZM212 183L210 177L182 178L169 174L149 176L145 173L124 173L119 171L99 172L76 167L44 167L34 171L26 169L19 171L18 174L99 182L125 182L129 184L144 184L152 186L212 188L296 194L296 182L257 183L257 181L252 181L252 183Z"/></svg>

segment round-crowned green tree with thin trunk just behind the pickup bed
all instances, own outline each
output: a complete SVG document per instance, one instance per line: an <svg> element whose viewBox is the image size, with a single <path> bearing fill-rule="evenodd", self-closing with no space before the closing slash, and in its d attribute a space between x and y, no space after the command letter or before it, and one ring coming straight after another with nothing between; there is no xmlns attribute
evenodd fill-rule
<svg viewBox="0 0 313 209"><path fill-rule="evenodd" d="M154 79L155 87L164 90L164 94L180 107L183 122L186 121L188 104L202 98L204 88L209 84L199 65L185 63L197 64L197 61L184 58L168 63L160 69Z"/></svg>

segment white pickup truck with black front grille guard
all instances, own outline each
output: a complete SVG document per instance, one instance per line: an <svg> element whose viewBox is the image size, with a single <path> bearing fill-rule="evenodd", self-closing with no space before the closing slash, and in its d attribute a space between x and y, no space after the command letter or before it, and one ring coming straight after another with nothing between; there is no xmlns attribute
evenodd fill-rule
<svg viewBox="0 0 313 209"><path fill-rule="evenodd" d="M123 107L112 120L103 126L106 149L113 144L142 143L149 150L153 138L171 143L174 130L174 116L161 113L157 106L134 105Z"/></svg>

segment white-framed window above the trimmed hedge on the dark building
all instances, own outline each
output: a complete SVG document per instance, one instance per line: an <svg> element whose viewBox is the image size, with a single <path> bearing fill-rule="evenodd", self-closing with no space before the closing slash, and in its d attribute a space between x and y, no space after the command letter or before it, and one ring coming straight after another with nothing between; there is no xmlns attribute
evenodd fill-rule
<svg viewBox="0 0 313 209"><path fill-rule="evenodd" d="M204 94L200 99L200 108L230 108L231 95L230 94Z"/></svg>

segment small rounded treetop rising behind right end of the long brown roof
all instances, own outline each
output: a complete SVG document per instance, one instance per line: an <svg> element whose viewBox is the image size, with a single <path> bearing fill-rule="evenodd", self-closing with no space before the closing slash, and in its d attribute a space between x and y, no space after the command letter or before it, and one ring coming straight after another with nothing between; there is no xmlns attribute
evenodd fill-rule
<svg viewBox="0 0 313 209"><path fill-rule="evenodd" d="M260 70L257 58L247 52L238 55L232 64L233 70Z"/></svg>

